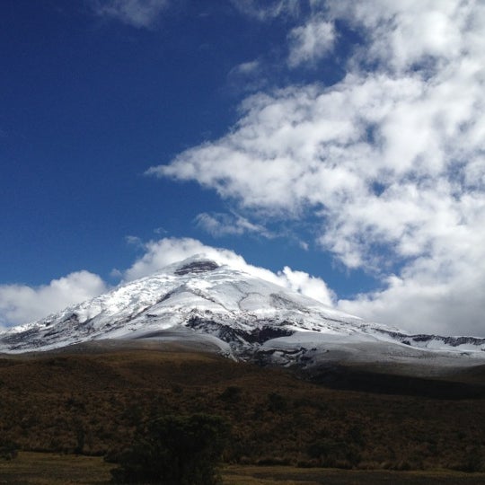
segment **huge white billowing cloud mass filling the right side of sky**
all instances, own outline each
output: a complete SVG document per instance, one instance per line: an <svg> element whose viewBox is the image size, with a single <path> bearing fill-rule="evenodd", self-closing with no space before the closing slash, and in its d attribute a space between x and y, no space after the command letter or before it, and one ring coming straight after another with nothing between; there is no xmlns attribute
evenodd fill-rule
<svg viewBox="0 0 485 485"><path fill-rule="evenodd" d="M313 7L305 25L346 22L366 40L347 75L331 87L252 95L225 137L149 173L198 181L274 220L311 214L322 249L383 278L383 291L341 303L352 313L476 331L485 313L485 5ZM329 34L304 47L305 28L290 34L295 66L331 45Z"/></svg>

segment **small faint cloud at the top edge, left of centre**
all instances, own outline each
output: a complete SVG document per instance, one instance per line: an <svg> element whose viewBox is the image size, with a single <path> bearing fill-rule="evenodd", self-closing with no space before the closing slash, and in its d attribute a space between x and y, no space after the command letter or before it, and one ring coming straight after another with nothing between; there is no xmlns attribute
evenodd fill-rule
<svg viewBox="0 0 485 485"><path fill-rule="evenodd" d="M93 0L93 12L137 28L157 22L169 0Z"/></svg>

